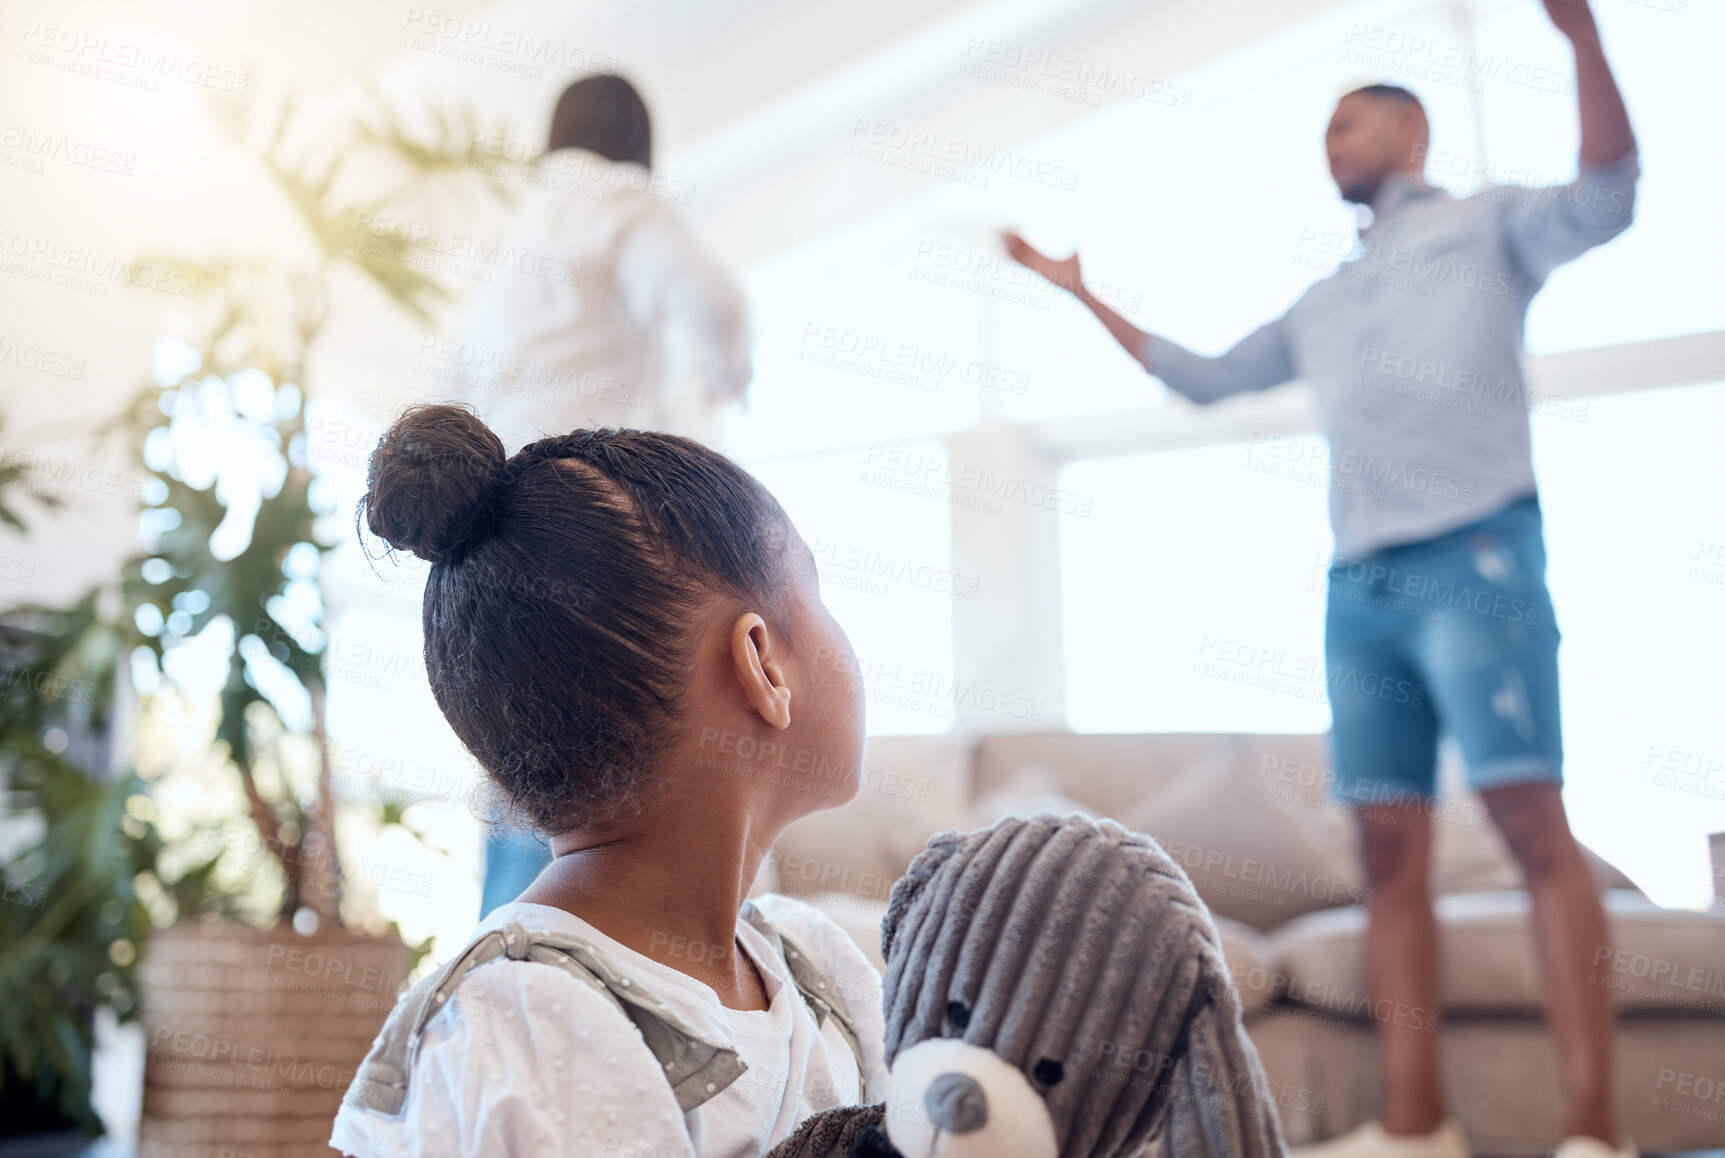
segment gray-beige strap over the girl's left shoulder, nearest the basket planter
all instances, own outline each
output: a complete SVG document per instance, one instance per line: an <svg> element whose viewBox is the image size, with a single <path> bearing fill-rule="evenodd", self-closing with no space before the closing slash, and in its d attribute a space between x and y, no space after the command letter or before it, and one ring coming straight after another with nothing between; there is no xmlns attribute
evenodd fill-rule
<svg viewBox="0 0 1725 1158"><path fill-rule="evenodd" d="M568 934L530 934L521 925L509 923L476 937L448 965L402 994L361 1063L347 1101L392 1117L400 1113L426 1025L448 1004L462 977L500 956L559 966L602 992L640 1030L683 1113L723 1091L749 1068L735 1049L714 1046L683 1025L662 1001L643 992L595 946Z"/></svg>

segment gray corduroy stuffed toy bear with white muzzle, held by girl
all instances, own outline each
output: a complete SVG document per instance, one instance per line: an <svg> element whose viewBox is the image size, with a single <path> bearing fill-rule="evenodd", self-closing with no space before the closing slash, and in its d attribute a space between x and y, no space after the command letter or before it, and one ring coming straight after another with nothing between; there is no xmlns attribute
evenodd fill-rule
<svg viewBox="0 0 1725 1158"><path fill-rule="evenodd" d="M1209 911L1111 820L942 832L881 922L885 1103L768 1158L1283 1155Z"/></svg>

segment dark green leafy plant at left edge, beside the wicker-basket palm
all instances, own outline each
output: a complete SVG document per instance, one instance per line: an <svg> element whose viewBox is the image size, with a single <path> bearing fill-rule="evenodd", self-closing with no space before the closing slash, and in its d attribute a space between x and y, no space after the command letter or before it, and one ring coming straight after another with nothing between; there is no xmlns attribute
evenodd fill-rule
<svg viewBox="0 0 1725 1158"><path fill-rule="evenodd" d="M5 495L0 518L24 530ZM69 1148L100 1132L95 1018L136 1011L150 922L135 882L159 851L126 811L138 778L112 770L114 639L98 618L95 597L0 616L0 1136ZM36 1149L52 1153L40 1137Z"/></svg>

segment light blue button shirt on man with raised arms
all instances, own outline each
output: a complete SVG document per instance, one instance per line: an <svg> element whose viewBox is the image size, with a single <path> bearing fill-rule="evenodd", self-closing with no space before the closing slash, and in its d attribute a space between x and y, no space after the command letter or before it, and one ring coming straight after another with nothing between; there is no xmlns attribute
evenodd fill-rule
<svg viewBox="0 0 1725 1158"><path fill-rule="evenodd" d="M1552 269L1628 228L1639 176L1630 150L1570 185L1463 198L1392 178L1349 261L1282 318L1220 357L1149 335L1144 361L1194 402L1313 385L1339 557L1442 535L1535 494L1527 305Z"/></svg>

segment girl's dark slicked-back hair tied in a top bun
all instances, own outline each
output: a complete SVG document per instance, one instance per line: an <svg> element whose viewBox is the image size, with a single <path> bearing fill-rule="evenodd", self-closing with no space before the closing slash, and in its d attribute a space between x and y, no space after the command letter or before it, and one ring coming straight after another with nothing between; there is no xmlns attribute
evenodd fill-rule
<svg viewBox="0 0 1725 1158"><path fill-rule="evenodd" d="M431 563L426 675L514 811L555 834L638 815L714 594L778 607L790 521L699 442L576 430L514 457L459 406L402 414L361 516Z"/></svg>

